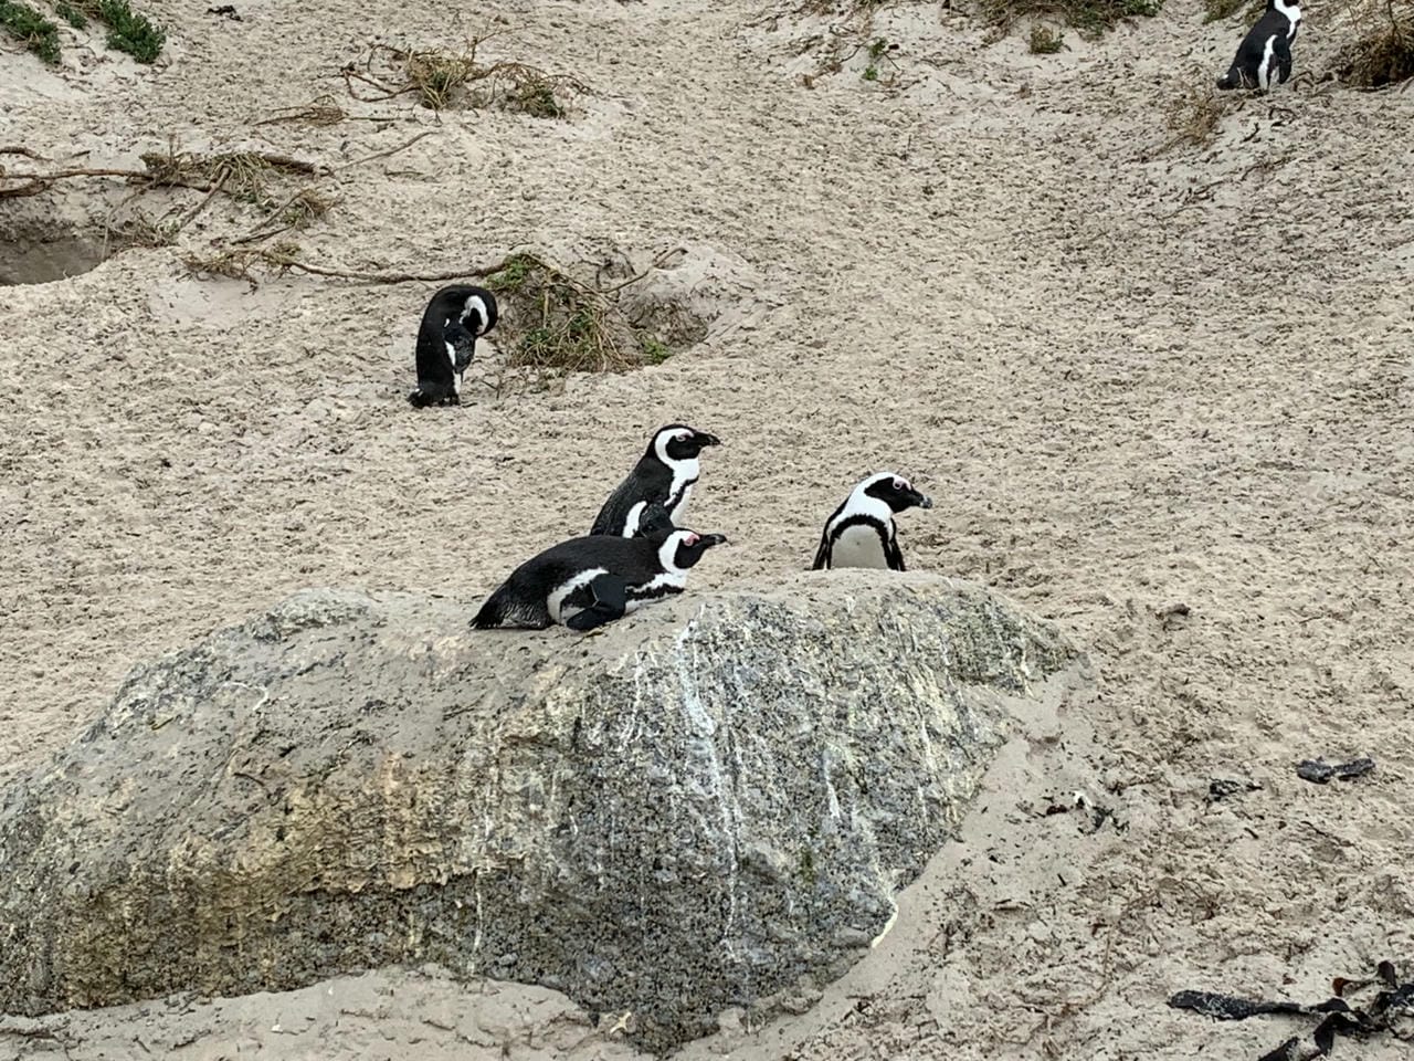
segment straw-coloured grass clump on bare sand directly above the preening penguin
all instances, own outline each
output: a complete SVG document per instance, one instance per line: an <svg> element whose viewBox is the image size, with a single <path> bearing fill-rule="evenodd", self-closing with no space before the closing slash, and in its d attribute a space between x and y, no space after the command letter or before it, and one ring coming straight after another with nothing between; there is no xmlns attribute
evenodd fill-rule
<svg viewBox="0 0 1414 1061"><path fill-rule="evenodd" d="M588 86L568 74L547 74L523 62L482 64L477 48L486 40L472 38L457 52L375 44L363 58L362 71L352 62L344 66L344 79L349 93L365 103L411 93L433 110L498 108L532 117L566 117L574 98L588 92ZM386 69L375 74L375 64ZM378 95L361 96L355 81L375 88Z"/></svg>

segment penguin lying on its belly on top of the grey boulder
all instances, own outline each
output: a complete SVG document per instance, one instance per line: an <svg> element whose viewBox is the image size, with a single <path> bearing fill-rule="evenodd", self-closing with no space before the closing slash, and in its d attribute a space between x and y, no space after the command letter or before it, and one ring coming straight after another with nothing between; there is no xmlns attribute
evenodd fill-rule
<svg viewBox="0 0 1414 1061"><path fill-rule="evenodd" d="M645 604L682 593L687 569L724 535L659 528L643 538L573 538L526 560L492 593L474 630L544 630L560 622L587 631Z"/></svg>

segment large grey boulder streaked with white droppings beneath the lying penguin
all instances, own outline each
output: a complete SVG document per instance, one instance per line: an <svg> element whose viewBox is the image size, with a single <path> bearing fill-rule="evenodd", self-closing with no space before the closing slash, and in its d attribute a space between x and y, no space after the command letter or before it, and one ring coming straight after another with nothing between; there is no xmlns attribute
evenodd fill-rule
<svg viewBox="0 0 1414 1061"><path fill-rule="evenodd" d="M440 962L645 1045L843 972L1076 659L926 574L684 596L595 637L301 593L137 668L0 805L0 1010Z"/></svg>

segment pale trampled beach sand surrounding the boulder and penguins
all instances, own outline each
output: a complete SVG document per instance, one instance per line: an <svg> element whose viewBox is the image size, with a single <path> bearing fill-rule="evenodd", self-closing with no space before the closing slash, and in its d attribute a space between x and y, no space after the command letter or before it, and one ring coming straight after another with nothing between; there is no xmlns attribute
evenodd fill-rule
<svg viewBox="0 0 1414 1061"><path fill-rule="evenodd" d="M1165 999L1315 1000L1414 963L1414 93L1319 81L1349 38L1336 6L1307 10L1315 76L1162 154L1175 99L1241 33L1195 0L1053 57L905 4L874 31L899 45L892 83L863 52L809 76L840 20L792 3L314 7L144 0L171 34L156 68L93 34L65 30L61 72L6 44L0 146L137 166L171 134L342 166L430 130L337 174L305 257L452 270L530 245L642 267L683 248L679 290L721 315L663 365L414 413L433 284L188 277L184 250L259 219L223 197L175 248L0 287L0 782L136 661L301 587L474 605L683 419L725 441L690 522L732 538L694 586L807 564L850 485L896 470L937 502L901 519L911 564L1063 624L1100 689L1008 747L960 843L816 1006L727 1014L684 1057L1257 1057L1299 1024ZM491 58L591 86L570 120L345 93L370 41L486 27ZM389 120L253 124L320 93ZM68 182L0 201L0 225L92 232L124 194ZM1315 755L1379 767L1318 787L1294 772ZM1210 802L1215 778L1256 788ZM1113 819L1045 813L1077 789ZM390 970L76 1013L44 1026L58 1038L11 1024L0 1057L632 1054L583 1020Z"/></svg>

